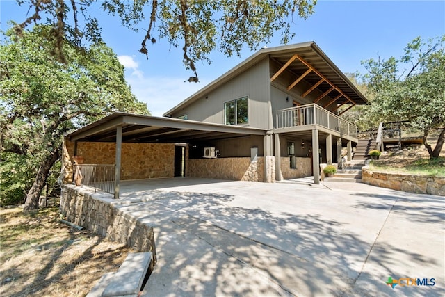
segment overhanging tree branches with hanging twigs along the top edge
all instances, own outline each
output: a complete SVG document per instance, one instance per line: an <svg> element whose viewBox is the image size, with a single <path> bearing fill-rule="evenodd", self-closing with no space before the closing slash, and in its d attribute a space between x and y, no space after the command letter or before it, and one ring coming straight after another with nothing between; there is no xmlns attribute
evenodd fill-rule
<svg viewBox="0 0 445 297"><path fill-rule="evenodd" d="M243 45L257 50L277 32L286 44L291 33L293 15L307 18L314 13L316 0L281 1L120 1L120 0L17 0L33 11L15 27L21 34L29 24L44 19L53 30L47 38L54 42L54 54L64 61L63 43L70 40L81 47L83 40L100 40L99 22L89 14L90 7L100 3L104 12L120 18L122 26L138 31L144 23L145 35L140 52L147 55L147 41L166 38L171 45L182 47L186 69L194 72L188 81L198 81L195 62L209 61L214 49L225 55L239 54ZM147 15L147 17L145 17ZM157 34L156 34L157 31ZM157 36L156 36L157 35Z"/></svg>

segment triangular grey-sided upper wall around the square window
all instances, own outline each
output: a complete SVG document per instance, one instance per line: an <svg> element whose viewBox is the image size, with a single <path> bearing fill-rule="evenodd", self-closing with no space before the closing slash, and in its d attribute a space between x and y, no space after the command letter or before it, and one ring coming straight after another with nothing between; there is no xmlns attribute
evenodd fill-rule
<svg viewBox="0 0 445 297"><path fill-rule="evenodd" d="M172 118L187 115L188 120L225 124L224 103L248 96L248 126L268 129L268 118L272 120L268 104L270 96L268 69L268 58L265 58L196 102L172 113Z"/></svg>

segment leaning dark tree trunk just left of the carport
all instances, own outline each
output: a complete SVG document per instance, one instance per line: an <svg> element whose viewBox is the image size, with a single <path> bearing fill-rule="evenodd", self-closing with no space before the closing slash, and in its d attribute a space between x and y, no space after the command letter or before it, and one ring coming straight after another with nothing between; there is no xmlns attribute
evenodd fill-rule
<svg viewBox="0 0 445 297"><path fill-rule="evenodd" d="M40 167L37 172L37 176L35 177L33 186L31 186L28 193L26 194L24 210L39 208L40 193L42 192L44 184L47 182L49 170L59 158L60 158L60 149L57 148L53 154L47 156L47 158L44 159L42 163L40 163Z"/></svg>

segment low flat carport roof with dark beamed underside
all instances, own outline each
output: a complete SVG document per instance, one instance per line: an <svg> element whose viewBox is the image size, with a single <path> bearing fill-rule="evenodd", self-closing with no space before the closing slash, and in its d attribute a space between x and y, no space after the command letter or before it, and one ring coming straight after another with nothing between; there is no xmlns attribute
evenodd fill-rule
<svg viewBox="0 0 445 297"><path fill-rule="evenodd" d="M124 143L193 143L250 135L266 135L267 130L159 118L149 115L115 112L66 135L70 141L115 142L116 127L122 125Z"/></svg>

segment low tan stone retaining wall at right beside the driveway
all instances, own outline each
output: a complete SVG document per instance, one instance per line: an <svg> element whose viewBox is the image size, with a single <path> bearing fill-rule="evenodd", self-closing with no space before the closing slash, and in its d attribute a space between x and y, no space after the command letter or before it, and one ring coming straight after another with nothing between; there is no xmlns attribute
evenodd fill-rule
<svg viewBox="0 0 445 297"><path fill-rule="evenodd" d="M445 177L373 172L365 166L362 168L362 182L409 193L445 196Z"/></svg>

